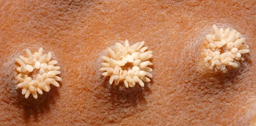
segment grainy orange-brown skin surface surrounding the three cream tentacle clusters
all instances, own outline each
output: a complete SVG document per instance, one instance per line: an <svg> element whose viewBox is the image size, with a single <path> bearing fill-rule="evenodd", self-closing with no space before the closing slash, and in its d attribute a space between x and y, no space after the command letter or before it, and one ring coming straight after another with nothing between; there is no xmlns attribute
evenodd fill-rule
<svg viewBox="0 0 256 126"><path fill-rule="evenodd" d="M256 125L255 20L255 0L2 0L0 125ZM213 24L235 29L250 48L235 71L200 65ZM106 48L125 39L154 52L144 87L110 85L99 71ZM62 81L24 98L15 57L40 47L58 61Z"/></svg>

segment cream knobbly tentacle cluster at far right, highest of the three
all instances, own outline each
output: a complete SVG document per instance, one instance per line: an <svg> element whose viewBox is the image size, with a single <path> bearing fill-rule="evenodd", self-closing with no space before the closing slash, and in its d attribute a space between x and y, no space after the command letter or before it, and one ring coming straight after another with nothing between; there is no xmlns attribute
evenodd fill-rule
<svg viewBox="0 0 256 126"><path fill-rule="evenodd" d="M240 38L241 34L236 30L230 31L230 28L218 29L212 25L215 34L207 34L208 49L204 54L206 66L209 69L221 69L226 66L236 68L237 62L244 61L243 54L249 53L249 46L245 45L245 39Z"/></svg>

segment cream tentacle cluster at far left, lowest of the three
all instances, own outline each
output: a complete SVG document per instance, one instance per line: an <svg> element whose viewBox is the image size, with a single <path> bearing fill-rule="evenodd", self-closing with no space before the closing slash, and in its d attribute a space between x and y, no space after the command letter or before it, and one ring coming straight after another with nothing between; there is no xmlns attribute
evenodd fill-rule
<svg viewBox="0 0 256 126"><path fill-rule="evenodd" d="M29 49L26 50L26 56L18 56L16 62L20 64L17 67L17 87L22 89L22 94L28 98L30 94L35 99L38 98L37 92L43 94L43 91L49 92L50 84L59 87L57 81L61 78L56 76L61 72L58 71L61 67L55 66L58 63L52 59L52 53L43 55L43 48L39 48L38 52L33 55Z"/></svg>

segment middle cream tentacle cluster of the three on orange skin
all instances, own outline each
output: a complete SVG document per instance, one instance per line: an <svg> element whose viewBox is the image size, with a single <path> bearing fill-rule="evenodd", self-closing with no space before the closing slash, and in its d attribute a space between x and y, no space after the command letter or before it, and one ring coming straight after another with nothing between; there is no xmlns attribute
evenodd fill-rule
<svg viewBox="0 0 256 126"><path fill-rule="evenodd" d="M146 51L148 48L143 47L143 42L137 42L129 46L128 40L125 40L125 45L116 42L113 50L107 48L109 56L102 56L104 62L102 63L102 76L110 76L109 83L113 81L116 85L120 82L125 84L125 87L134 87L136 83L144 87L145 82L149 82L152 78L150 73L152 69L147 67L153 65L152 62L147 61L151 58L152 51ZM143 47L143 48L142 48Z"/></svg>

